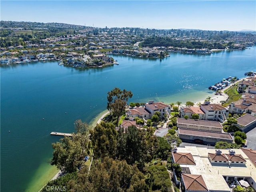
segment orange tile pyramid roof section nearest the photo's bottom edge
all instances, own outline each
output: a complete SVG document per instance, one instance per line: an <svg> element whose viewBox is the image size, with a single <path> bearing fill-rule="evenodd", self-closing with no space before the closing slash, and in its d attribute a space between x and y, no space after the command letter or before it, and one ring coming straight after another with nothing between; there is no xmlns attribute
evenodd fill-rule
<svg viewBox="0 0 256 192"><path fill-rule="evenodd" d="M186 190L208 191L202 175L182 174Z"/></svg>

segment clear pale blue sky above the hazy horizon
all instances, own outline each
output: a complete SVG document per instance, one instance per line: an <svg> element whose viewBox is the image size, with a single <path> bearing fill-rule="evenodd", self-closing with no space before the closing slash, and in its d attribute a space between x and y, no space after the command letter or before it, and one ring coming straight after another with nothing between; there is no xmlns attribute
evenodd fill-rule
<svg viewBox="0 0 256 192"><path fill-rule="evenodd" d="M101 28L256 30L256 0L0 0L0 19Z"/></svg>

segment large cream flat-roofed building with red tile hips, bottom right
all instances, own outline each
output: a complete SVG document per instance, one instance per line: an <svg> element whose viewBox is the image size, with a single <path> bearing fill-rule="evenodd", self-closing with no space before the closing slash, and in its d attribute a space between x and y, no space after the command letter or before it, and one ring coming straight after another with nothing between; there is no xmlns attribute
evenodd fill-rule
<svg viewBox="0 0 256 192"><path fill-rule="evenodd" d="M231 192L230 184L241 180L256 189L255 151L247 149L208 149L195 146L174 148L172 160L180 164L185 192ZM256 153L255 153L256 154ZM255 159L254 159L255 160Z"/></svg>

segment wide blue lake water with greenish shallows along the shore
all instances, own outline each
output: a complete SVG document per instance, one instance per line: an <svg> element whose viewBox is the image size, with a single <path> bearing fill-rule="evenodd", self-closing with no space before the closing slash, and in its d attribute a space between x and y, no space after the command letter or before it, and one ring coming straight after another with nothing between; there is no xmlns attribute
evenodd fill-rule
<svg viewBox="0 0 256 192"><path fill-rule="evenodd" d="M131 90L128 102L200 101L208 86L256 71L256 47L210 55L171 53L163 59L112 55L119 65L103 68L38 62L1 66L1 191L26 191L42 164L50 164L50 132L73 132L106 110L107 92ZM44 120L43 120L44 118ZM10 130L10 132L8 132Z"/></svg>

